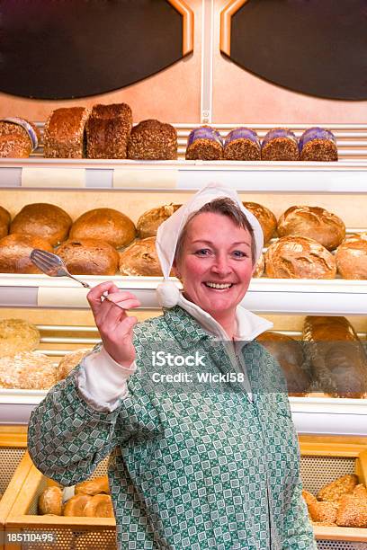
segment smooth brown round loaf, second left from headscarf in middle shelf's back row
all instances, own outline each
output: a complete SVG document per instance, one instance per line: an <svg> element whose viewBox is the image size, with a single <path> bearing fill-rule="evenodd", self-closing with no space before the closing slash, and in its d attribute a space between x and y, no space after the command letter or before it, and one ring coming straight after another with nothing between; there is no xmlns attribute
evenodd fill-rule
<svg viewBox="0 0 367 550"><path fill-rule="evenodd" d="M94 208L79 216L70 229L70 239L97 239L115 248L127 246L135 239L130 217L113 208Z"/></svg>

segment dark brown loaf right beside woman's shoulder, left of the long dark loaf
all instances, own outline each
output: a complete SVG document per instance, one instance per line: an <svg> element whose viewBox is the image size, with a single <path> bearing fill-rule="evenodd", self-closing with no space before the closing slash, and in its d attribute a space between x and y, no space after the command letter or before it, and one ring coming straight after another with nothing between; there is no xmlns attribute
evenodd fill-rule
<svg viewBox="0 0 367 550"><path fill-rule="evenodd" d="M291 336L266 331L257 336L266 350L280 364L290 395L306 395L311 384L311 372L306 363L302 345Z"/></svg>

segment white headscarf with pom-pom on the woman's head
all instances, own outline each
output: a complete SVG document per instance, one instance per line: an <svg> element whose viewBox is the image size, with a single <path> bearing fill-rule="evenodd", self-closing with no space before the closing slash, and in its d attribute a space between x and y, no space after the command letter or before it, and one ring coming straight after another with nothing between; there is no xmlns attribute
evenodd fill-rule
<svg viewBox="0 0 367 550"><path fill-rule="evenodd" d="M175 259L177 241L188 217L190 217L193 212L200 210L204 204L222 197L234 200L238 208L245 214L250 226L252 226L254 230L254 265L260 258L263 251L264 235L257 218L244 207L237 195L237 191L223 183L211 182L193 195L190 200L183 204L182 207L178 208L172 216L168 217L166 221L158 227L156 248L158 259L165 277L164 282L157 287L158 301L162 307L174 307L180 304L181 293L175 283L169 281L168 278Z"/></svg>

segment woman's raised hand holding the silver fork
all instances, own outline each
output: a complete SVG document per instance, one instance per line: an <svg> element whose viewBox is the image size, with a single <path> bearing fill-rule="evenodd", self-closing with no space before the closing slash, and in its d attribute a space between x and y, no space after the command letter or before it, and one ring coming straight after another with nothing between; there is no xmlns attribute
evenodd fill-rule
<svg viewBox="0 0 367 550"><path fill-rule="evenodd" d="M109 299L101 301L105 293L108 294ZM139 299L130 292L120 290L111 281L92 288L86 297L92 308L104 349L122 367L130 367L135 359L132 330L138 323L138 319L128 316L125 310L139 307ZM114 306L110 300L122 306L123 309Z"/></svg>

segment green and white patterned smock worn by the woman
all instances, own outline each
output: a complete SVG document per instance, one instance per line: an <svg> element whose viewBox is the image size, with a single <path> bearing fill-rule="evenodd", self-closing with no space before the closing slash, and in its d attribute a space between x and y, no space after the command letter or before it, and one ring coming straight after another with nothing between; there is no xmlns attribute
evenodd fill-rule
<svg viewBox="0 0 367 550"><path fill-rule="evenodd" d="M122 550L316 549L301 498L298 439L280 368L258 342L242 348L252 401L240 382L198 384L197 371L234 372L224 342L181 307L136 325L129 395L100 412L79 395L79 366L31 414L29 451L63 485L110 455ZM190 383L154 383L153 350L204 357L169 367Z"/></svg>

